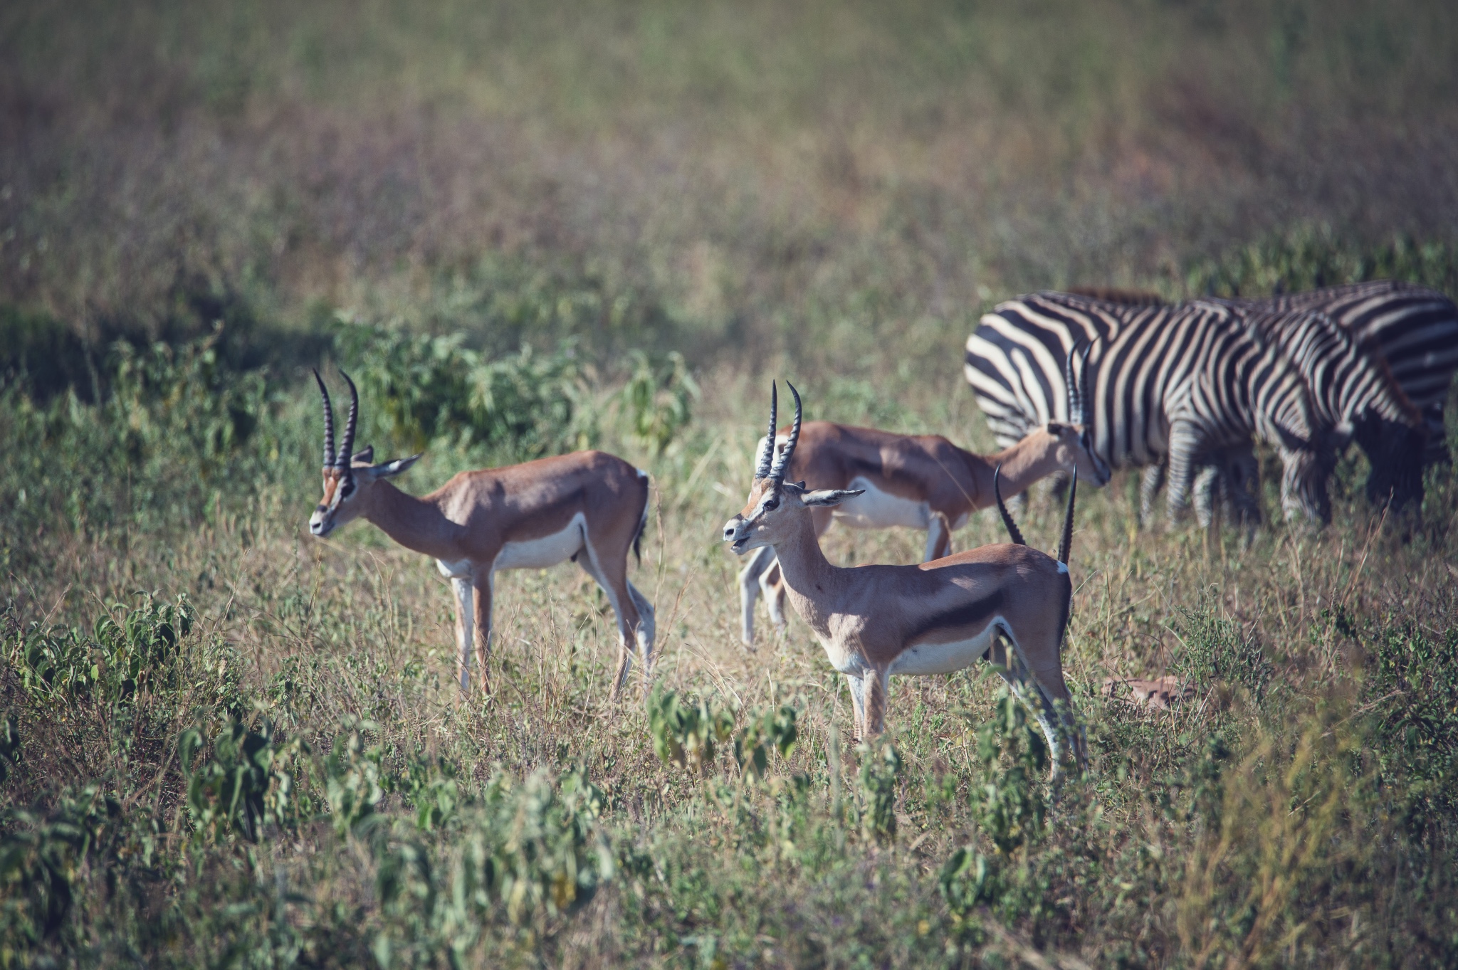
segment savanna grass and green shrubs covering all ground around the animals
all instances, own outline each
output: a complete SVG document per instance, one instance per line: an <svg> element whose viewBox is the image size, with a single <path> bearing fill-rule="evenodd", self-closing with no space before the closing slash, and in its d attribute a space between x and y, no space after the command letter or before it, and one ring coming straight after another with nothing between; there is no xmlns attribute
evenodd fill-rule
<svg viewBox="0 0 1458 970"><path fill-rule="evenodd" d="M4 6L0 966L1452 966L1449 466L1248 546L1080 491L1057 797L986 670L857 746L719 529L770 376L987 449L1021 290L1458 291L1455 55L1416 1ZM315 364L410 491L649 469L652 680L561 567L459 698L433 565L308 535Z"/></svg>

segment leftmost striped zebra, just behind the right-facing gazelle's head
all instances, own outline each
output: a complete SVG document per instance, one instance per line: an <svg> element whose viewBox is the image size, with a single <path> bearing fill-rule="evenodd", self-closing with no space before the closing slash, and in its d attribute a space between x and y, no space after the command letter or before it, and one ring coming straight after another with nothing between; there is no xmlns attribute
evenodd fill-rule
<svg viewBox="0 0 1458 970"><path fill-rule="evenodd" d="M1252 336L1241 310L1217 301L1134 304L1038 293L999 304L968 338L965 357L967 380L999 444L1066 419L1057 412L1066 399L1063 366L1077 342L1094 348L1080 383L1095 452L1111 468L1168 460L1171 520L1188 507L1196 470L1248 447L1252 434L1282 456L1286 517L1330 518L1318 421L1301 373L1277 342ZM1149 484L1146 475L1146 505Z"/></svg>

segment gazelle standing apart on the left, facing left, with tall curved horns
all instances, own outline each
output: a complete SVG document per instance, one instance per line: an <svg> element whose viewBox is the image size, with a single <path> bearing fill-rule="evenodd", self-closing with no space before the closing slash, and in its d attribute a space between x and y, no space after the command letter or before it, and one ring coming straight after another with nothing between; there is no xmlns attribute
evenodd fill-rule
<svg viewBox="0 0 1458 970"><path fill-rule="evenodd" d="M455 588L456 673L469 687L471 648L488 687L491 588L499 569L545 569L573 559L608 594L618 616L617 698L633 666L633 644L643 655L644 682L653 663L653 604L628 583L628 551L637 553L647 524L647 473L604 452L576 452L525 465L461 472L429 495L408 495L386 478L416 463L418 454L373 465L375 450L351 454L359 392L348 374L350 417L344 446L334 450L334 409L324 396L324 498L309 516L321 539L353 518L379 526L414 552L433 556Z"/></svg>

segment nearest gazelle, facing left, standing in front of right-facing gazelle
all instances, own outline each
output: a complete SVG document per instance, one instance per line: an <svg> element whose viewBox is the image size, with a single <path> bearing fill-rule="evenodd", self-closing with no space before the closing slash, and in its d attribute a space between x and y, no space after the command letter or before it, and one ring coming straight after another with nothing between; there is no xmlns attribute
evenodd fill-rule
<svg viewBox="0 0 1458 970"><path fill-rule="evenodd" d="M770 450L761 449L749 501L725 524L723 539L736 553L770 548L779 555L790 604L815 631L831 666L846 674L857 737L884 730L891 674L951 673L990 655L1005 661L1003 677L1037 714L1053 750L1054 778L1061 773L1063 734L1082 766L1083 736L1061 661L1073 600L1067 558L1077 472L1057 559L1021 545L1003 508L1019 540L1012 545L981 546L920 565L834 567L821 552L814 511L860 491L809 491L803 482L786 481L800 435L800 396L793 385L790 393L795 422L789 441L773 465ZM771 389L771 434L774 411ZM1010 650L1003 652L999 638Z"/></svg>

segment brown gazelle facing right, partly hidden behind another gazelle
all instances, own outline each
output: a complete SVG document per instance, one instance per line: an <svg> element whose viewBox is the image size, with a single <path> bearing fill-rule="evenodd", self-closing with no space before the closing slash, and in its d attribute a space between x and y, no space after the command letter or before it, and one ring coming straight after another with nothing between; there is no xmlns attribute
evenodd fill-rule
<svg viewBox="0 0 1458 970"><path fill-rule="evenodd" d="M862 492L840 505L815 508L811 520L822 536L833 521L851 529L926 529L924 562L952 552L952 532L974 511L993 504L993 470L1002 466L1005 495L1018 495L1034 482L1059 472L1077 472L1102 486L1110 469L1091 447L1083 425L1082 390L1069 354L1064 386L1069 389L1069 424L1048 422L997 454L974 454L939 434L891 434L830 421L809 421L800 428L784 473L809 489ZM1085 360L1088 348L1083 350ZM784 452L784 430L774 449ZM760 438L760 452L768 437ZM754 645L754 604L764 593L770 620L784 629L784 584L774 552L760 549L739 572L741 632Z"/></svg>

